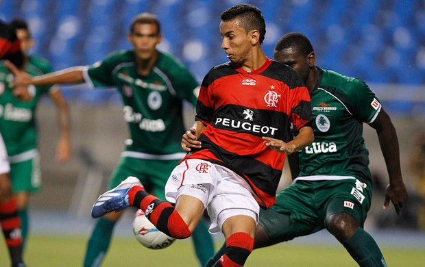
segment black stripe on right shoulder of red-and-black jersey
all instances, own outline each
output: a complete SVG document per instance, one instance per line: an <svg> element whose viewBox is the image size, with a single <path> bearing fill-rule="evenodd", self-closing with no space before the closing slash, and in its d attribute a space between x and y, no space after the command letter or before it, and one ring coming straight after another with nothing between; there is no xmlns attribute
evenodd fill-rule
<svg viewBox="0 0 425 267"><path fill-rule="evenodd" d="M260 75L283 81L289 89L298 88L300 84L304 84L300 75L293 68L277 61L272 61L270 66L263 73L260 73Z"/></svg>

